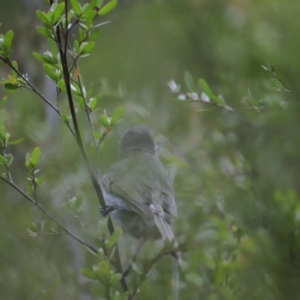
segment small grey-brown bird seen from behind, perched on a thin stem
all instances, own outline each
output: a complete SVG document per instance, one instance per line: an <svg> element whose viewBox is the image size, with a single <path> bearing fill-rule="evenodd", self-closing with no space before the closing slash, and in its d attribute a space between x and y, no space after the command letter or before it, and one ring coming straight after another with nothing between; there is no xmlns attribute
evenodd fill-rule
<svg viewBox="0 0 300 300"><path fill-rule="evenodd" d="M176 245L170 226L177 215L174 193L147 127L134 126L123 135L120 161L101 185L106 202L101 212L109 213L124 232L143 242L162 237ZM181 260L179 252L172 255Z"/></svg>

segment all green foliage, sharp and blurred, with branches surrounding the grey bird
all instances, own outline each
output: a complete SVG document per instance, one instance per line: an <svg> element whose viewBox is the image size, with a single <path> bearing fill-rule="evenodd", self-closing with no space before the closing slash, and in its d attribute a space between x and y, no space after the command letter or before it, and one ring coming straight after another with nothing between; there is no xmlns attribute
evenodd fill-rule
<svg viewBox="0 0 300 300"><path fill-rule="evenodd" d="M46 2L0 2L3 299L297 299L297 1ZM120 284L136 241L98 213L137 123L176 170L179 282L149 241Z"/></svg>

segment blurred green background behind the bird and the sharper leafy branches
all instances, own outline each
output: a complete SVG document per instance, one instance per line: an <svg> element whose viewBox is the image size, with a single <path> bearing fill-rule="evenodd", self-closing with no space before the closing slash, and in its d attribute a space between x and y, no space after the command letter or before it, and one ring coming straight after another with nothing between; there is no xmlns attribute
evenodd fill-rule
<svg viewBox="0 0 300 300"><path fill-rule="evenodd" d="M32 56L47 49L35 30L37 9L46 9L42 1L1 0L0 30L14 31L13 59L56 104L55 87ZM101 146L100 172L118 159L120 136L135 124L153 130L162 161L176 170L174 230L184 244L179 299L300 299L299 13L298 0L123 0L103 18L111 22L91 56L79 62L85 85L101 95L99 114L125 109ZM177 100L167 83L187 91L186 71L234 111ZM8 72L1 66L1 79ZM103 220L65 124L27 90L9 94L5 110L12 139L25 138L9 148L15 183L25 186L25 154L40 147L46 179L39 201L94 243ZM84 114L80 121L88 147ZM63 203L79 194L83 210L74 217ZM54 225L3 182L0 200L1 299L95 299L79 268L97 259L65 235L30 236L32 222L45 232ZM120 243L126 265L136 241ZM139 285L139 264L161 247L152 245L142 250L131 288ZM155 265L139 299L170 296L171 261ZM57 292L43 294L55 285Z"/></svg>

